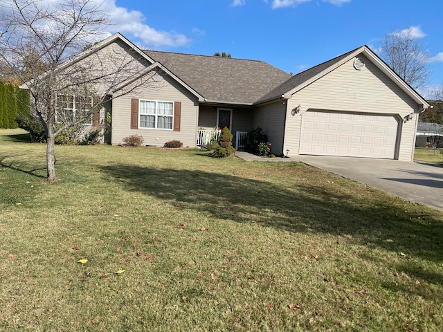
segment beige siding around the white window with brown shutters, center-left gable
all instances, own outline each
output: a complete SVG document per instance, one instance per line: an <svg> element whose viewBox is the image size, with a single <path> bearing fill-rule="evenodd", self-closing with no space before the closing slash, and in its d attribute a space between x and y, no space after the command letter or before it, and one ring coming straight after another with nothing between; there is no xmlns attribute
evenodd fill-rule
<svg viewBox="0 0 443 332"><path fill-rule="evenodd" d="M197 98L172 80L168 75L157 74L156 86L139 87L129 95L118 97L112 103L112 144L123 142L123 138L138 134L143 136L144 145L162 147L170 140L180 140L185 147L197 144ZM181 102L180 131L172 129L131 129L131 99Z"/></svg>

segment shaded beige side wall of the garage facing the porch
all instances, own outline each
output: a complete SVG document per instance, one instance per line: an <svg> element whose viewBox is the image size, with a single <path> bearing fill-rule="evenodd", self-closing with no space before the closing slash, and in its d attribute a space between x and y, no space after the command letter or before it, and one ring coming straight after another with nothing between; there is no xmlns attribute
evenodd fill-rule
<svg viewBox="0 0 443 332"><path fill-rule="evenodd" d="M256 109L253 116L253 128L263 129L271 143L271 152L276 155L283 152L285 113L286 103L273 102Z"/></svg>

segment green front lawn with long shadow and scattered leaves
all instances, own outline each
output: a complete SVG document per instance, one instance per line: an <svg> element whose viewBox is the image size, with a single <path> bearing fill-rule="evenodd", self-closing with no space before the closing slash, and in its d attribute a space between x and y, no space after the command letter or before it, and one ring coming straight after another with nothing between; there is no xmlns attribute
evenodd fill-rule
<svg viewBox="0 0 443 332"><path fill-rule="evenodd" d="M197 149L57 146L51 184L0 133L1 331L443 326L441 211Z"/></svg>

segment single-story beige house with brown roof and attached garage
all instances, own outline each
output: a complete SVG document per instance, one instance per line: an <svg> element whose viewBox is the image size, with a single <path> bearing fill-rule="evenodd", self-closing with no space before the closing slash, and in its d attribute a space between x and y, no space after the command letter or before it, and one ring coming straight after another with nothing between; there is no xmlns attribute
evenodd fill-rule
<svg viewBox="0 0 443 332"><path fill-rule="evenodd" d="M113 145L138 134L146 145L196 147L215 127L237 138L261 127L276 155L413 160L418 113L429 107L368 46L294 76L262 61L142 51L119 33L87 52L128 48L143 57L141 75L156 71L156 87L105 105Z"/></svg>

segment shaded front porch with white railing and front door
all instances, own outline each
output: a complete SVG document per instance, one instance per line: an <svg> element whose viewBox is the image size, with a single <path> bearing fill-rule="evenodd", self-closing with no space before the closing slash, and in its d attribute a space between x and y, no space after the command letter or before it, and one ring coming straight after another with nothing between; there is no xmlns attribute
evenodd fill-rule
<svg viewBox="0 0 443 332"><path fill-rule="evenodd" d="M242 149L247 133L252 129L252 119L252 107L200 105L197 146L204 147L213 140L217 140L221 129L228 127L233 134L233 146L235 149Z"/></svg>

